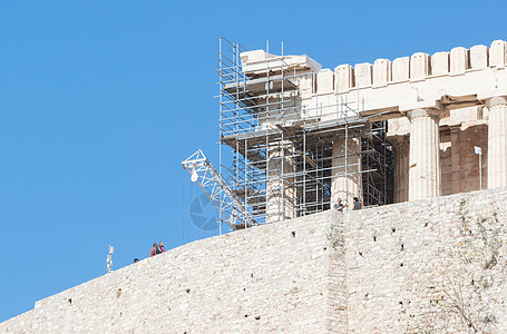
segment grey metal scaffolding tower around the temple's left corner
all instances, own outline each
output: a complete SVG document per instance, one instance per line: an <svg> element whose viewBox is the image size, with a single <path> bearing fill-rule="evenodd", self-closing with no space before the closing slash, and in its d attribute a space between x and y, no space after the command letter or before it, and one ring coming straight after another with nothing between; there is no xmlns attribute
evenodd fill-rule
<svg viewBox="0 0 507 334"><path fill-rule="evenodd" d="M387 122L361 116L359 89L320 95L320 68L281 49L270 55L267 42L263 61L244 68L246 48L220 39L218 173L244 210L264 224L326 210L337 196L392 203Z"/></svg>

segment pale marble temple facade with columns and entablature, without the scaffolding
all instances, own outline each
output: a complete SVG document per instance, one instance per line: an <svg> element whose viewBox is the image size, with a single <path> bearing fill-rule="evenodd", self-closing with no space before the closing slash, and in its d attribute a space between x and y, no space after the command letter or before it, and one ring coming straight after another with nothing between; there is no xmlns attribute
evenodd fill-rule
<svg viewBox="0 0 507 334"><path fill-rule="evenodd" d="M287 144L298 141L286 139L299 138L293 135L298 130L305 138L319 132L320 143L328 148L316 158L300 149L301 160L310 165L329 160L322 167L329 173L316 178L330 189L329 197L321 196L321 200L367 200L364 174L379 171L380 165L388 169L380 176L380 188L391 196L382 199L379 195L379 205L507 185L507 43L503 40L490 47L340 65L334 70L322 69L308 56L274 56L263 50L243 52L241 59L248 78L246 96L252 92L252 81L265 82L257 92L263 96L263 107L256 109L260 126L252 132L285 132L283 143ZM369 167L364 155L371 151L364 138L371 134L358 129L371 129L378 122L386 125L383 145L393 158ZM265 138L272 145L272 137ZM276 147L277 153L289 151ZM277 166L287 166L291 181L298 177L301 168L287 161L294 154L267 154L269 160L275 157L284 159ZM287 179L282 174L280 168L269 168L267 193L275 175ZM305 195L298 184L283 185L285 194L292 195L285 196L285 207L298 207L302 200L296 197Z"/></svg>

